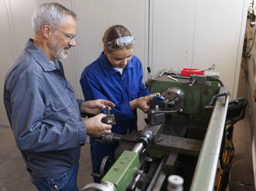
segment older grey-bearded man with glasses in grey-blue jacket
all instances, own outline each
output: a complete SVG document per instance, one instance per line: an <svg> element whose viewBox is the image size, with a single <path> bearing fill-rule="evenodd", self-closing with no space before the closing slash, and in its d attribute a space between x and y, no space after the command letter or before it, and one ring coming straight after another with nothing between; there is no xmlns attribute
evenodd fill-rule
<svg viewBox="0 0 256 191"><path fill-rule="evenodd" d="M111 126L98 114L112 102L77 100L62 63L76 45L76 14L63 5L39 5L32 15L34 39L9 69L4 102L17 146L39 190L78 190L80 146L89 136L105 136Z"/></svg>

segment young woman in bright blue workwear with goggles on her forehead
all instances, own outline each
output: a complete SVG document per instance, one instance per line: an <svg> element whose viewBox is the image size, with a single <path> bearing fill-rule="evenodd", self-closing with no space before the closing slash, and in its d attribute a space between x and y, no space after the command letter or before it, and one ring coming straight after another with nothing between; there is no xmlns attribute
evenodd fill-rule
<svg viewBox="0 0 256 191"><path fill-rule="evenodd" d="M104 33L104 50L100 57L84 69L81 75L84 99L107 99L114 102L112 109L116 125L111 131L126 134L137 130L136 109L148 111L150 95L142 82L142 63L132 55L135 39L122 25L113 25ZM115 146L103 145L90 138L93 173L99 173L104 156L114 157ZM94 182L100 182L94 176Z"/></svg>

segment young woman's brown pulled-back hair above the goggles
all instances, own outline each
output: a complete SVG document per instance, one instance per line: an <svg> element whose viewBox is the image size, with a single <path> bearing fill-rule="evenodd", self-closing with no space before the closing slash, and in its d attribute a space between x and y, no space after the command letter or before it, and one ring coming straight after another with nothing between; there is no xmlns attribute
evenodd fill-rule
<svg viewBox="0 0 256 191"><path fill-rule="evenodd" d="M123 25L113 25L110 28L107 29L107 31L104 33L104 36L102 38L102 42L104 44L104 48L111 52L110 49L106 46L108 42L111 42L114 39L118 39L120 37L124 36L131 36L131 32L125 26Z"/></svg>

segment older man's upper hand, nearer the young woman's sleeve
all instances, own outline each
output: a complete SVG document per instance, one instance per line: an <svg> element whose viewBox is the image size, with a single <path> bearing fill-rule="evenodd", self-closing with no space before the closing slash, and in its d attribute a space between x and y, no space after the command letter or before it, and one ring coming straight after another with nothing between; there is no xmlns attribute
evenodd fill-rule
<svg viewBox="0 0 256 191"><path fill-rule="evenodd" d="M80 112L97 115L104 107L114 107L114 103L104 99L96 99L82 102Z"/></svg>

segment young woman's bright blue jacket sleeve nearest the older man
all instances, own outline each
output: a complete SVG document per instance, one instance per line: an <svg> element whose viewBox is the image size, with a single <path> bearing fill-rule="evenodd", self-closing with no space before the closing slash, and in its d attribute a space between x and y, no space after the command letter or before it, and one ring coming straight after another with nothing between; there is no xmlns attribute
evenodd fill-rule
<svg viewBox="0 0 256 191"><path fill-rule="evenodd" d="M80 79L80 85L84 93L85 100L94 100L94 99L108 99L104 95L104 90L101 88L101 85L97 82L97 79L92 74L87 74L83 72ZM130 102L122 102L121 104L116 104L112 108L114 117L116 121L123 121L128 119L135 119L135 114L131 110Z"/></svg>

